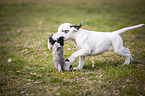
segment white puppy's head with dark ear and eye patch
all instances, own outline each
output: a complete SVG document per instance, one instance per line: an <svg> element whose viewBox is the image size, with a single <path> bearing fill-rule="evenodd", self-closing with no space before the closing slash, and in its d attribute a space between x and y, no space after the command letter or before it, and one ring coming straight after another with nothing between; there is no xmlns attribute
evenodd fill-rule
<svg viewBox="0 0 145 96"><path fill-rule="evenodd" d="M81 28L82 25L83 25L82 21L80 25L70 24L70 23L61 24L58 27L58 32L56 34L63 36L64 40L71 39L73 33L76 33Z"/></svg>

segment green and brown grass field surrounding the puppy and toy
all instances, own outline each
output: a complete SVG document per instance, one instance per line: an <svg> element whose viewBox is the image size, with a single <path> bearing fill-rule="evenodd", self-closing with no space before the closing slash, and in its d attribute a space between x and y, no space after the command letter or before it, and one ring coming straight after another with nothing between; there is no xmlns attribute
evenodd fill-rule
<svg viewBox="0 0 145 96"><path fill-rule="evenodd" d="M145 96L145 26L121 34L134 58L130 65L121 66L124 58L109 51L86 57L81 71L58 72L47 48L49 36L65 22L83 21L83 29L102 32L143 24L144 5L144 0L1 0L0 95ZM65 41L64 57L75 51Z"/></svg>

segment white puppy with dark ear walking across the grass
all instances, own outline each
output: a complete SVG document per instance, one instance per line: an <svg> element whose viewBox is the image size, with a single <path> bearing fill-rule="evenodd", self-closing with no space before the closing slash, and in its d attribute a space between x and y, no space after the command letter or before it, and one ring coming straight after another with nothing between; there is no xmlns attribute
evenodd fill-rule
<svg viewBox="0 0 145 96"><path fill-rule="evenodd" d="M113 50L117 55L125 58L124 64L129 64L133 60L131 52L123 46L123 40L119 34L143 26L139 24L131 27L126 27L113 32L95 32L81 29L83 25L64 23L58 28L57 35L64 37L64 40L72 40L75 43L77 51L74 52L69 62L72 64L79 57L79 65L76 70L81 70L84 66L85 56L93 56L101 54L108 50ZM48 42L48 48L51 49L51 44Z"/></svg>

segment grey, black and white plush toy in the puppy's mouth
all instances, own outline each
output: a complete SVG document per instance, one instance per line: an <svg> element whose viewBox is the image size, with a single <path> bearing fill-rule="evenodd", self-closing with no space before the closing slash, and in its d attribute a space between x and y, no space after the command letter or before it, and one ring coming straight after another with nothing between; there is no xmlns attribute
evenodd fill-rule
<svg viewBox="0 0 145 96"><path fill-rule="evenodd" d="M57 37L54 35L51 35L49 37L49 42L53 46L53 62L56 67L56 69L60 71L62 70L73 70L73 66L71 63L69 63L68 60L64 60L63 56L63 45L64 45L64 37L60 37L57 35Z"/></svg>

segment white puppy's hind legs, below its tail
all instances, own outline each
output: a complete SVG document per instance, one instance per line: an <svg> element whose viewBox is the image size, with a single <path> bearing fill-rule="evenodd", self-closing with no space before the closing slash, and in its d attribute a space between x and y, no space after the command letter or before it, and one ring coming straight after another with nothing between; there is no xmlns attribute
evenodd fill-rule
<svg viewBox="0 0 145 96"><path fill-rule="evenodd" d="M125 62L123 63L123 65L125 64L129 64L130 61L133 60L132 56L131 56L131 52L129 51L128 48L125 48L125 47L120 47L119 49L115 49L114 52L119 55L119 56L122 56L125 58Z"/></svg>

